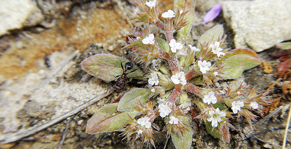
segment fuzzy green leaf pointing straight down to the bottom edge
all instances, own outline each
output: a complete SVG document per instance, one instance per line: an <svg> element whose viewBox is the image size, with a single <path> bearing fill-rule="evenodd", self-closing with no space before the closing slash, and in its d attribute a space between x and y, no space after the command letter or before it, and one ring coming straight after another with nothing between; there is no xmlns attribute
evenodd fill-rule
<svg viewBox="0 0 291 149"><path fill-rule="evenodd" d="M179 117L179 120L187 121L186 117ZM176 149L190 149L192 144L192 128L189 126L186 126L189 131L186 131L183 133L182 139L179 137L178 133L175 134L174 132L171 133L172 141L176 147Z"/></svg>

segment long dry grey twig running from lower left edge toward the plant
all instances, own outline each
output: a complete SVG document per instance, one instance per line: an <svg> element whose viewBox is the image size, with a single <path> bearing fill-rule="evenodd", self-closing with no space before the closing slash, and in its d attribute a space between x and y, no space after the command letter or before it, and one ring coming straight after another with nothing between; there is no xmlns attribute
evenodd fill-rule
<svg viewBox="0 0 291 149"><path fill-rule="evenodd" d="M24 138L24 137L27 137L29 135L32 135L32 134L35 134L39 131L42 131L64 119L66 119L67 117L70 117L72 115L75 115L76 113L80 112L81 110L85 109L86 107L88 107L89 105L91 104L94 104L96 103L97 101L99 101L100 99L108 96L109 94L111 94L113 91L104 91L102 93L100 93L99 95L97 95L96 97L90 99L88 102L84 103L84 104L81 104L80 106L76 107L75 109L69 111L69 112L66 112L65 114L63 114L62 116L58 117L58 118L55 118L55 119L52 119L40 126L37 126L35 128L31 128L31 129L28 129L28 130L24 130L24 131L20 131L18 133L15 133L15 134L12 134L2 140L0 140L0 144L5 144L5 143L11 143L11 142L15 142L21 138Z"/></svg>

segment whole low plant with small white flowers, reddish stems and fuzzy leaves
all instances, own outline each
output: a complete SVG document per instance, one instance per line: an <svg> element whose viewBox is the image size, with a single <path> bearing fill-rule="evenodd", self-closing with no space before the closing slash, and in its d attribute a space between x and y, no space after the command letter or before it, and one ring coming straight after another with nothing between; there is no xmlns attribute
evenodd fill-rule
<svg viewBox="0 0 291 149"><path fill-rule="evenodd" d="M141 30L132 31L124 48L133 50L146 68L142 72L133 66L132 70L138 70L126 76L147 80L148 85L130 89L119 103L100 108L88 121L86 133L120 131L132 143L141 139L155 146L154 134L165 131L165 138L171 136L177 149L190 149L193 127L197 127L190 124L194 119L226 142L231 138L229 128L236 129L229 119L244 117L252 125L257 117L254 112L262 112L261 104L266 104L267 93L257 93L256 88L244 83L216 89L213 81L235 79L259 65L257 54L251 49L227 49L222 25L202 34L197 45L185 45L194 21L194 0L174 0L174 9L162 13L162 17L157 11L159 1L133 2L140 11L132 19ZM148 24L156 25L165 38L156 37ZM185 54L179 54L181 51ZM121 61L129 62L111 54L97 54L83 60L81 66L88 74L108 82L123 73ZM194 105L198 107L197 116L189 112ZM161 126L154 121L158 117L164 123Z"/></svg>

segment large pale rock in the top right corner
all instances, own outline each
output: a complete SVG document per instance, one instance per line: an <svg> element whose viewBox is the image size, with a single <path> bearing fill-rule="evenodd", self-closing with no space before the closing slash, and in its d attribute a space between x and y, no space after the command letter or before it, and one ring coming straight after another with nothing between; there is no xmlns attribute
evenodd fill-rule
<svg viewBox="0 0 291 149"><path fill-rule="evenodd" d="M222 6L236 48L260 52L291 39L290 0L224 1Z"/></svg>

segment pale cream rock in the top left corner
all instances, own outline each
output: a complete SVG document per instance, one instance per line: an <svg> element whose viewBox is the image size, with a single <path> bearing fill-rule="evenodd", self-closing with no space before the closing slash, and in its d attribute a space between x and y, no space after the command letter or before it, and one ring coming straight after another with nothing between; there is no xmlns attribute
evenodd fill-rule
<svg viewBox="0 0 291 149"><path fill-rule="evenodd" d="M0 36L7 34L9 30L36 25L43 18L35 1L0 0Z"/></svg>

